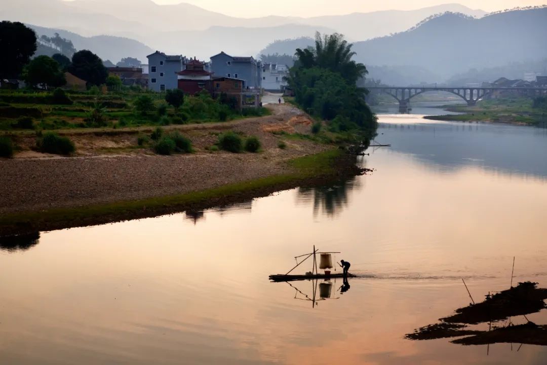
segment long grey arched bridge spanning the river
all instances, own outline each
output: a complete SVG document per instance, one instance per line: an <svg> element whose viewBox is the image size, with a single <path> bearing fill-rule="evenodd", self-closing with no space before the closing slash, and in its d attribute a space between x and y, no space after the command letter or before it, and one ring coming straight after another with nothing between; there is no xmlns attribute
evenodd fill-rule
<svg viewBox="0 0 547 365"><path fill-rule="evenodd" d="M410 110L410 99L416 95L428 91L446 91L461 97L467 102L467 105L473 106L477 101L487 95L492 95L494 91L515 91L524 96L547 95L547 88L470 88L466 86L452 88L437 87L402 87L402 86L372 86L367 88L370 91L384 92L393 96L399 102L399 112L408 113Z"/></svg>

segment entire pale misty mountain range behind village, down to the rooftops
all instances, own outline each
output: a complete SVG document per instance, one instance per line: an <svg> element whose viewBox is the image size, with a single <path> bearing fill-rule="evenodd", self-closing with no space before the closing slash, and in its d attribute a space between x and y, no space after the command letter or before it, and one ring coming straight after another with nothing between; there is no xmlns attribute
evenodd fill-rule
<svg viewBox="0 0 547 365"><path fill-rule="evenodd" d="M220 50L235 55L257 55L260 49L276 39L311 37L316 31L341 32L349 40L365 40L407 30L424 18L444 11L459 11L473 16L485 14L482 10L463 5L445 4L411 11L246 19L187 3L158 5L152 0L2 0L0 19L71 31L88 37L89 42L94 39L89 37L104 34L136 39L142 46L147 44L154 50L206 59ZM71 39L78 48L75 40L65 38ZM142 57L133 53L137 51L137 41L127 42L127 47L119 40L115 48L107 49L102 48L106 44L93 44L98 47L94 49L96 53L114 62L124 54L124 50L124 57Z"/></svg>

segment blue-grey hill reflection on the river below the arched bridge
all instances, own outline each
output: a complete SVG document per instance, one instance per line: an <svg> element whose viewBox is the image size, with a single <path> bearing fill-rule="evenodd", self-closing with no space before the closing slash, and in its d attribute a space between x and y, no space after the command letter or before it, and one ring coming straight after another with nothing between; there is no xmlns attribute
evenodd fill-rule
<svg viewBox="0 0 547 365"><path fill-rule="evenodd" d="M428 167L453 171L477 166L487 171L547 178L547 130L514 125L447 123L386 115L379 133L391 150L410 154Z"/></svg>

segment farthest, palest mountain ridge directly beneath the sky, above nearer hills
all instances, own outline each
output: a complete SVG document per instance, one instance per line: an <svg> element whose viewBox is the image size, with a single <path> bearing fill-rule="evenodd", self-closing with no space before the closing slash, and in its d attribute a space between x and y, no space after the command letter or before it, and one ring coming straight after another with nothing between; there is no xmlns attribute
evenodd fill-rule
<svg viewBox="0 0 547 365"><path fill-rule="evenodd" d="M187 3L158 5L152 0L2 0L0 18L62 28L83 36L106 33L143 42L149 42L150 37L160 33L205 31L212 26L271 28L293 24L330 28L345 33L348 39L365 40L406 30L427 16L444 11L484 15L482 10L445 4L411 11L387 10L315 18L266 16L247 19L215 13ZM302 35L292 34L292 37ZM273 39L282 38L277 36Z"/></svg>

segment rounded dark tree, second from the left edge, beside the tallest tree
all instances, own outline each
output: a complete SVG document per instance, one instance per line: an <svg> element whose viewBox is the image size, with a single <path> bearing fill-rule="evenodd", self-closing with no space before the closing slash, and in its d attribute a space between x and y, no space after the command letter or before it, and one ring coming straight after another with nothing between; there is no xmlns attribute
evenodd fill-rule
<svg viewBox="0 0 547 365"><path fill-rule="evenodd" d="M59 70L59 63L48 56L38 56L23 71L25 82L32 86L42 86L48 90L66 84L65 74Z"/></svg>

